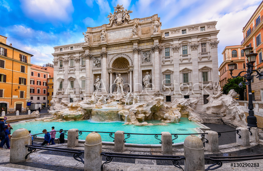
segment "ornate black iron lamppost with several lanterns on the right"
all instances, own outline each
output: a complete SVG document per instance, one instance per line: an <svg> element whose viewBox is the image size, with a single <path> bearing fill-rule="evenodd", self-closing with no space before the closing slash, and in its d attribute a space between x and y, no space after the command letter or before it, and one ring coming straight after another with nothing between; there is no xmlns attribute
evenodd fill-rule
<svg viewBox="0 0 263 171"><path fill-rule="evenodd" d="M248 120L248 127L258 127L257 126L257 118L254 116L254 107L253 107L253 102L252 102L252 90L251 90L251 80L254 78L254 76L257 76L256 78L258 78L259 76L263 76L261 73L259 73L257 70L254 70L253 67L254 67L254 63L256 62L256 57L258 55L258 53L253 53L253 47L248 47L243 49L244 52L245 52L245 55L247 57L247 63L246 63L246 66L248 67L248 69L246 71L241 71L237 76L232 76L232 71L235 69L235 66L236 64L233 63L233 61L231 61L229 64L228 64L228 68L229 68L229 71L230 71L230 75L232 76L232 78L236 78L238 76L240 76L241 73L245 73L243 76L240 76L240 77L243 77L247 80L247 82L241 82L239 84L239 87L242 87L243 86L243 83L245 85L248 85L248 117L247 117L247 120ZM252 75L253 74L253 71L256 72L256 75Z"/></svg>

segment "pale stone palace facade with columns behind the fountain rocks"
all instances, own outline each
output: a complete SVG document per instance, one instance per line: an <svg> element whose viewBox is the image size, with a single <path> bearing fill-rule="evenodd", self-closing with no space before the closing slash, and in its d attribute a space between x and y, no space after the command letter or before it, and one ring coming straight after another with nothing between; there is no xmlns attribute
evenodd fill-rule
<svg viewBox="0 0 263 171"><path fill-rule="evenodd" d="M109 24L87 27L85 42L54 47L53 98L112 94L121 74L139 102L160 90L167 102L199 97L198 105L206 103L219 82L216 21L161 30L157 14L131 20L131 12L117 6Z"/></svg>

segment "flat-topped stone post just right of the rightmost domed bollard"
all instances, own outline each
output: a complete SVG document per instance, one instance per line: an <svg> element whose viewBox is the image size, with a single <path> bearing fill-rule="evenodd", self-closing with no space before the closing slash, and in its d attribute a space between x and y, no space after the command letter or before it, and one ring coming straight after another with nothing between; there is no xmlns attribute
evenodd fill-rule
<svg viewBox="0 0 263 171"><path fill-rule="evenodd" d="M218 152L219 146L218 146L218 133L215 131L205 131L205 138L208 140L208 143L206 144L206 149L211 152ZM205 140L206 141L206 140Z"/></svg>

